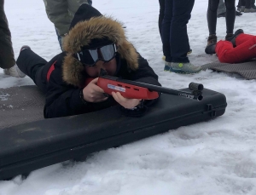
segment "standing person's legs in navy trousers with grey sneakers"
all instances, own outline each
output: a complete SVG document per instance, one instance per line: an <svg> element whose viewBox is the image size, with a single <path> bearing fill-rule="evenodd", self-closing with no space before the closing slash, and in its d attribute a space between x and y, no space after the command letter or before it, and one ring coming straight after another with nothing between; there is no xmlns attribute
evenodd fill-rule
<svg viewBox="0 0 256 195"><path fill-rule="evenodd" d="M200 72L201 67L192 65L187 56L190 50L187 24L195 0L159 0L159 3L159 31L166 56L164 71Z"/></svg>

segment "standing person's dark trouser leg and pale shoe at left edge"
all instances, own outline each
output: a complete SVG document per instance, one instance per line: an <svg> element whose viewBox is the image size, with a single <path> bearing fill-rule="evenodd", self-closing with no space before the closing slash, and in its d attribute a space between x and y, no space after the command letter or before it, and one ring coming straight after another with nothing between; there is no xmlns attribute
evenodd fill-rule
<svg viewBox="0 0 256 195"><path fill-rule="evenodd" d="M6 75L25 77L15 64L15 54L11 42L8 20L4 13L4 0L0 0L0 67Z"/></svg>

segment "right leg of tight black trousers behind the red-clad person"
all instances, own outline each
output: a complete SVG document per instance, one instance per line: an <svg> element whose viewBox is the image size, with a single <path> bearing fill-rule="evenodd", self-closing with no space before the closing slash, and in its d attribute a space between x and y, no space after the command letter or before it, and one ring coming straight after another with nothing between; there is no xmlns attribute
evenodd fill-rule
<svg viewBox="0 0 256 195"><path fill-rule="evenodd" d="M233 33L236 20L236 1L225 0L227 33Z"/></svg>

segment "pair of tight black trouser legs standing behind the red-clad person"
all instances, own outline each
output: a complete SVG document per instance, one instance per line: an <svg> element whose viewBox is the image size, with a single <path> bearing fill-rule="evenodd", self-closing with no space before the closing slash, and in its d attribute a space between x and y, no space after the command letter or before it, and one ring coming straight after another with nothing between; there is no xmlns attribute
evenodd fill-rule
<svg viewBox="0 0 256 195"><path fill-rule="evenodd" d="M209 0L207 9L207 23L209 34L216 34L217 26L217 9L219 0ZM235 0L225 0L226 6L226 29L227 33L233 33L236 19L236 5Z"/></svg>

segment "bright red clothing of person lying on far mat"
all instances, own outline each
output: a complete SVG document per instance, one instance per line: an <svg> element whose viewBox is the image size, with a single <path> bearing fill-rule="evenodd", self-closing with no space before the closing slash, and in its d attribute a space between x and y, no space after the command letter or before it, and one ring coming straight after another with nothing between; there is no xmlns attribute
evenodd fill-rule
<svg viewBox="0 0 256 195"><path fill-rule="evenodd" d="M224 63L238 63L256 57L256 36L241 33L236 37L236 48L228 41L216 44L218 60Z"/></svg>

